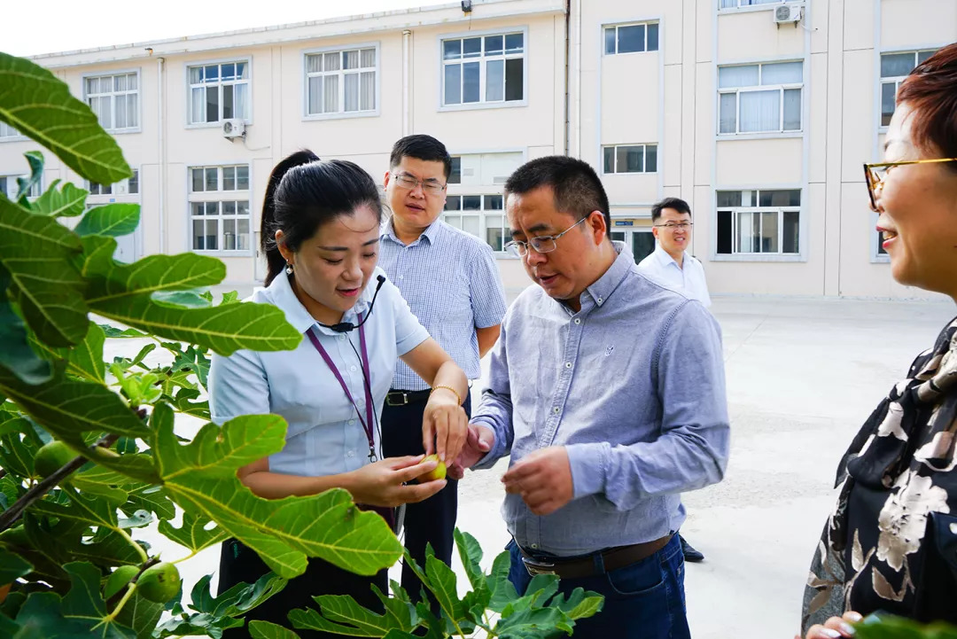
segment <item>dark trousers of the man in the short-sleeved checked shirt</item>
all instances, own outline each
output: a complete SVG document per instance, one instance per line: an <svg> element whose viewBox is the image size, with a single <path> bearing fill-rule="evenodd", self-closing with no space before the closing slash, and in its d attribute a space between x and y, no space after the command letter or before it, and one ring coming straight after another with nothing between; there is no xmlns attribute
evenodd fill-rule
<svg viewBox="0 0 957 639"><path fill-rule="evenodd" d="M472 393L465 395L462 405L472 416ZM425 402L405 406L386 405L382 409L382 452L387 457L422 454L422 413ZM419 503L407 504L405 515L405 544L412 558L425 569L425 546L431 543L435 557L452 563L455 549L453 532L458 510L458 482L449 479L449 485ZM421 582L409 566L402 567L402 587L418 601Z"/></svg>

